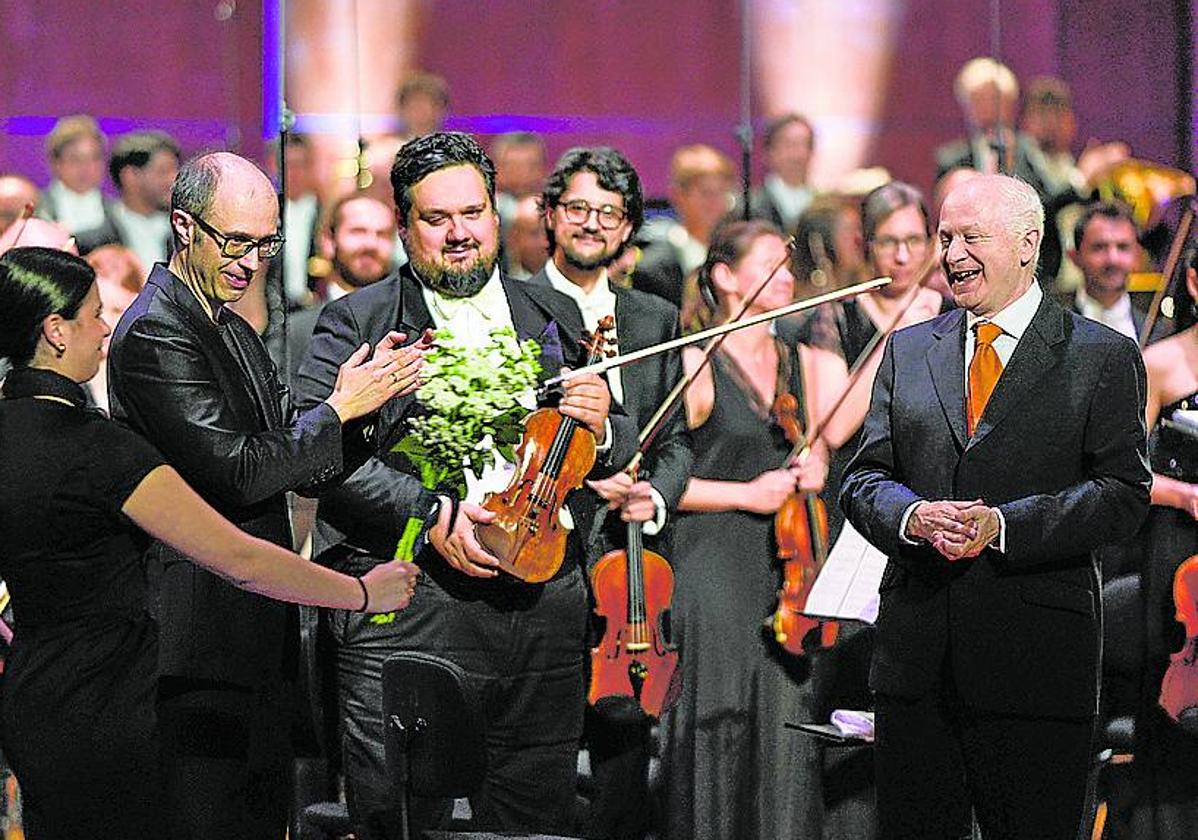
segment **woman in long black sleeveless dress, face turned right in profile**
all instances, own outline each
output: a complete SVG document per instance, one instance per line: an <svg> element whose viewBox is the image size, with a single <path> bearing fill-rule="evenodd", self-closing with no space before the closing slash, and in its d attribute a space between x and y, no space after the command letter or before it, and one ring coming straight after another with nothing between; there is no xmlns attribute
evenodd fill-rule
<svg viewBox="0 0 1198 840"><path fill-rule="evenodd" d="M715 318L744 300L786 259L781 234L736 222L712 240L700 284ZM748 314L789 303L785 265ZM692 371L698 352L688 351ZM810 657L781 649L764 623L778 603L774 516L797 489L823 483L823 447L801 465L773 417L786 392L807 429L845 386L835 353L787 345L770 326L728 334L686 392L695 466L674 527L673 631L682 696L664 720L666 832L671 840L819 836L822 798L815 742L783 727L810 721Z"/></svg>

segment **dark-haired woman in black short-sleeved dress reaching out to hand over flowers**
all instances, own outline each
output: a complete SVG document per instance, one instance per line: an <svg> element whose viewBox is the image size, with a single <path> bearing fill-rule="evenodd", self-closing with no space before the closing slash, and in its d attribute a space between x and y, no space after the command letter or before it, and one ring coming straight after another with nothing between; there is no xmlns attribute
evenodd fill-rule
<svg viewBox="0 0 1198 840"><path fill-rule="evenodd" d="M153 447L86 407L79 383L108 334L86 262L48 248L0 258L0 356L13 364L0 400L0 576L16 620L2 741L30 840L167 835L146 534L302 604L400 609L417 574L388 563L353 579L223 519Z"/></svg>

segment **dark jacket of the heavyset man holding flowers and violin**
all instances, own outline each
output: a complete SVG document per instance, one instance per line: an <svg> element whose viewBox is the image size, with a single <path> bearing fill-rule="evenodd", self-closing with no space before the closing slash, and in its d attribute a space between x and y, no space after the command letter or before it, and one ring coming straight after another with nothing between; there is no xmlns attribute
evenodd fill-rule
<svg viewBox="0 0 1198 840"><path fill-rule="evenodd" d="M552 289L507 278L503 278L503 290L520 339L541 342L544 376L556 374L549 361L549 339L553 333L559 336L565 363L571 367L581 364L583 359L577 338L582 333L582 316L574 301ZM556 326L546 331L550 324ZM327 303L296 377L300 406L315 405L325 399L337 379L339 359L362 343L374 345L391 330L405 332L415 342L430 326L434 321L424 304L419 283L406 266L387 279ZM337 563L338 551L355 549L374 557L389 558L407 516L413 510L426 510L431 503L431 496L420 488L419 481L404 472L404 460L391 452L403 437L404 419L413 407L412 395L385 405L379 412L369 460L343 484L321 495L314 550L323 555L325 562ZM615 404L611 428L611 448L606 457L599 458L593 477L611 475L635 452L636 428ZM588 496L593 495L576 491L568 498L577 533L587 533L591 525L594 503L588 501ZM431 557L425 555L420 562L428 568L429 560Z"/></svg>

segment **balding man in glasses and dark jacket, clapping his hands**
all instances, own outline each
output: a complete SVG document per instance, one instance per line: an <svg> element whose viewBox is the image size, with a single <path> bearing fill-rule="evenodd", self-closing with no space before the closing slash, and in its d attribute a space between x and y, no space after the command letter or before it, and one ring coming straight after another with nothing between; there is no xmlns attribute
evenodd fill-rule
<svg viewBox="0 0 1198 840"><path fill-rule="evenodd" d="M113 331L113 417L237 527L291 548L285 492L315 492L362 463L364 418L416 388L422 352L397 351L397 333L380 336L369 362L370 348L350 348L333 362L327 399L291 412L261 339L228 307L283 246L270 180L246 158L204 155L180 169L170 204L170 262L153 267ZM406 509L428 506L416 490ZM171 836L282 838L295 608L161 542L147 566Z"/></svg>

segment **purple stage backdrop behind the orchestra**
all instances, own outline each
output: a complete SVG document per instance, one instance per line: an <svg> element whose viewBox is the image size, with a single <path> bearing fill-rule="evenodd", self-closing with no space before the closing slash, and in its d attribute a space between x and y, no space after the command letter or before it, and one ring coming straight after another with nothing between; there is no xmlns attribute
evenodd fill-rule
<svg viewBox="0 0 1198 840"><path fill-rule="evenodd" d="M271 113L262 89L277 66L273 48L264 59L264 5L270 11L279 2L6 0L0 171L24 171L44 185L46 132L56 116L75 111L99 117L110 135L153 126L175 134L187 152L260 155ZM410 2L419 23L413 42L397 49L448 79L450 127L540 131L551 156L609 143L629 155L657 195L676 146L707 141L737 153L739 0ZM991 4L858 2L887 7L896 28L866 162L927 187L932 147L962 132L954 74L991 50ZM351 13L352 4L344 5ZM1188 167L1192 5L1003 0L999 55L1021 80L1055 74L1073 86L1079 145L1125 139L1138 157ZM761 102L754 111L760 123Z"/></svg>

